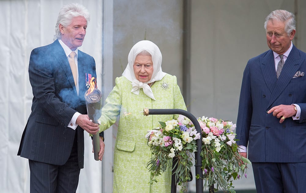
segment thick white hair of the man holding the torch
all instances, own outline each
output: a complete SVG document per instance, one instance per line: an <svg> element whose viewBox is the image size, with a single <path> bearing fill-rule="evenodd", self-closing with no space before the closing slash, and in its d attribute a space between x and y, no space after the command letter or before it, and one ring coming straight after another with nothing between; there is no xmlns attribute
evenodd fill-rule
<svg viewBox="0 0 306 193"><path fill-rule="evenodd" d="M58 20L55 25L55 35L54 40L61 39L62 34L59 30L59 25L62 24L64 27L67 27L71 24L73 17L83 16L87 24L90 21L90 14L88 9L78 3L70 3L68 5L62 6L61 10L58 13Z"/></svg>

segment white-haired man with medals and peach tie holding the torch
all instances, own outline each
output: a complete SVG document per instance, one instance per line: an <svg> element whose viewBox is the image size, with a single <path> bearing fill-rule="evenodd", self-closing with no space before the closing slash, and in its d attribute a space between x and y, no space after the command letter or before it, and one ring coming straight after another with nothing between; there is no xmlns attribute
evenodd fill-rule
<svg viewBox="0 0 306 193"><path fill-rule="evenodd" d="M18 155L28 158L30 192L76 192L84 165L84 130L99 132L87 115L87 78L96 77L95 60L78 50L90 20L79 4L63 6L52 44L30 56L32 112L22 134ZM100 133L99 159L104 152Z"/></svg>

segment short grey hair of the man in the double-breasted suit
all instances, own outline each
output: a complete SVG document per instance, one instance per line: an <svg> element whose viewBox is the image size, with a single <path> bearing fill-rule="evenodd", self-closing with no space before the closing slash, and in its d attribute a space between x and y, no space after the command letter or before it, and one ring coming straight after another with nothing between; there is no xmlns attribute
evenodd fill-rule
<svg viewBox="0 0 306 193"><path fill-rule="evenodd" d="M267 17L265 21L265 29L267 30L267 23L268 21L281 21L285 23L285 32L290 35L290 33L295 30L295 16L293 13L277 9L275 11L272 11Z"/></svg>

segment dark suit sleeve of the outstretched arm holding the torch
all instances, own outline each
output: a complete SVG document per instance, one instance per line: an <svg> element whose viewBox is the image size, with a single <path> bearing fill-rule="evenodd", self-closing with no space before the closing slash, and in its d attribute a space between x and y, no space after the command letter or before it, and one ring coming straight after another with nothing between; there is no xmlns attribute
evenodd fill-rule
<svg viewBox="0 0 306 193"><path fill-rule="evenodd" d="M31 53L29 78L33 96L39 107L66 126L76 111L69 108L55 95L54 69L51 65L52 62L48 62L50 58L47 57L48 55L38 49L34 49Z"/></svg>

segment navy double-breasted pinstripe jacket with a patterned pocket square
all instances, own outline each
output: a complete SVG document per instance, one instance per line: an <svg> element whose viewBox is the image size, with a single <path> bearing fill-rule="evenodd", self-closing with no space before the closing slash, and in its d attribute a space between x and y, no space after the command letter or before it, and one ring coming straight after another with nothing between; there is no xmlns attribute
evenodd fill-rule
<svg viewBox="0 0 306 193"><path fill-rule="evenodd" d="M306 53L294 45L279 78L272 50L252 58L245 67L237 118L238 145L248 145L253 162L306 162ZM279 118L267 111L274 106L298 104L300 121Z"/></svg>

